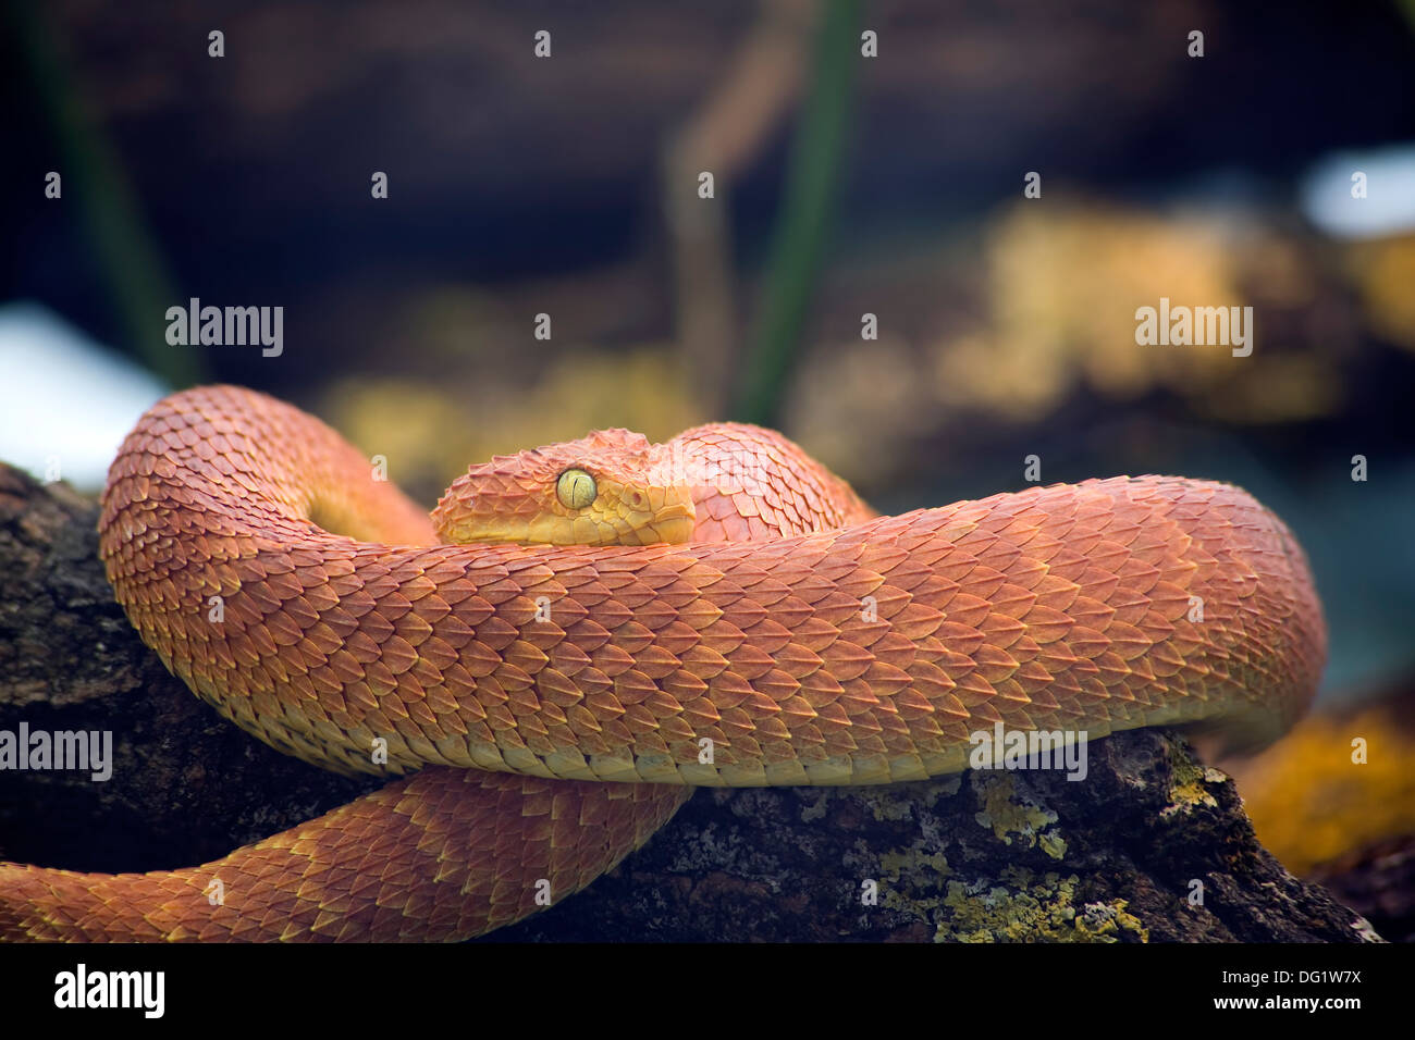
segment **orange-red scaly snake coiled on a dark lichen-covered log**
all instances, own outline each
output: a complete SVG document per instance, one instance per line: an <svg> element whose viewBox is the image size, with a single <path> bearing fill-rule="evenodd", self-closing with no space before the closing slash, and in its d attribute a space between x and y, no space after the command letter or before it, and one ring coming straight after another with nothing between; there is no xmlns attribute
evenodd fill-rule
<svg viewBox="0 0 1415 1040"><path fill-rule="evenodd" d="M1271 741L1326 661L1245 491L1033 485L877 515L782 434L625 430L468 467L429 516L236 386L123 441L99 552L140 638L272 747L385 787L197 867L0 863L0 938L456 941L559 903L700 785L959 773L978 732Z"/></svg>

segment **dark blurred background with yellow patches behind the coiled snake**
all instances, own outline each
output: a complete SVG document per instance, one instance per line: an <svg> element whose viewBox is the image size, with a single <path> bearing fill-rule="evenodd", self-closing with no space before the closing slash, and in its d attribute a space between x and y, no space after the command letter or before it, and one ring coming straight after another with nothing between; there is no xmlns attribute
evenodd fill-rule
<svg viewBox="0 0 1415 1040"><path fill-rule="evenodd" d="M0 76L0 458L98 491L228 381L429 505L727 417L884 511L1030 454L1230 480L1332 627L1329 729L1235 767L1259 833L1315 870L1415 831L1415 0L7 0ZM170 345L191 297L283 307L280 355ZM1160 297L1251 306L1251 357L1138 345Z"/></svg>

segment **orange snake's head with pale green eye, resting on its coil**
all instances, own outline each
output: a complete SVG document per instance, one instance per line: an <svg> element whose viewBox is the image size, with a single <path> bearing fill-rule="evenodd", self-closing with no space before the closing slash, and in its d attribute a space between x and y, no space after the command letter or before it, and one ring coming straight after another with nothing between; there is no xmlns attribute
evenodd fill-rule
<svg viewBox="0 0 1415 1040"><path fill-rule="evenodd" d="M600 430L471 466L432 518L443 542L654 545L689 541L695 512L662 446Z"/></svg>

